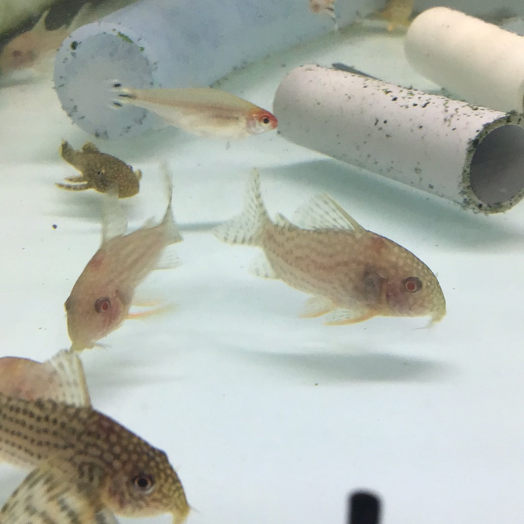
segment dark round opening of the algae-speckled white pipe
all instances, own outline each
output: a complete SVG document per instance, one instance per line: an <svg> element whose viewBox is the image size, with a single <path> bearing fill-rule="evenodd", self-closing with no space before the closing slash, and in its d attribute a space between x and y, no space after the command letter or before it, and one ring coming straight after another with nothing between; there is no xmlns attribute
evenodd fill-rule
<svg viewBox="0 0 524 524"><path fill-rule="evenodd" d="M505 203L524 189L524 128L497 127L478 144L470 167L471 189L486 205Z"/></svg>

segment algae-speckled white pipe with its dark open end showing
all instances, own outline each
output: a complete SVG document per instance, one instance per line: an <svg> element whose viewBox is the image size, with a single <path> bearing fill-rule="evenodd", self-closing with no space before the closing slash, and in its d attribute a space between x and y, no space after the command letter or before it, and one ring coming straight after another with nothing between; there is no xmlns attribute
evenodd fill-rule
<svg viewBox="0 0 524 524"><path fill-rule="evenodd" d="M524 196L523 115L303 65L274 100L281 135L459 203L506 211Z"/></svg>

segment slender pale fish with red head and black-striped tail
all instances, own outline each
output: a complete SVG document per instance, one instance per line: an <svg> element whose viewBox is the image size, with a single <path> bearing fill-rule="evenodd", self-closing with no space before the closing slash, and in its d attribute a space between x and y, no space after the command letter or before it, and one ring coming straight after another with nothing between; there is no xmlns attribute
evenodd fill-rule
<svg viewBox="0 0 524 524"><path fill-rule="evenodd" d="M277 118L238 96L211 88L131 89L113 84L116 107L131 104L188 133L227 140L275 129Z"/></svg>

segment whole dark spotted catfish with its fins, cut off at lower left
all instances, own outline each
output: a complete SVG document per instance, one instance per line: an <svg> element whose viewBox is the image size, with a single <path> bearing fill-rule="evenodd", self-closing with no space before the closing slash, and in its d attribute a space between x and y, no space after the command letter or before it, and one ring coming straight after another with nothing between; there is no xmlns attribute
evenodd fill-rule
<svg viewBox="0 0 524 524"><path fill-rule="evenodd" d="M0 459L32 470L0 523L113 524L114 515L164 513L183 522L189 505L166 454L91 407L77 354L48 362L63 385L59 398L76 403L0 393Z"/></svg>

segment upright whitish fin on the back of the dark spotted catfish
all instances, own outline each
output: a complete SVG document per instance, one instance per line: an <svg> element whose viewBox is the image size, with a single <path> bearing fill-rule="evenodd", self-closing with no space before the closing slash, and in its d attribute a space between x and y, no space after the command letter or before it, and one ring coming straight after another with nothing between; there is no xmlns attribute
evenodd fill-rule
<svg viewBox="0 0 524 524"><path fill-rule="evenodd" d="M62 350L46 363L57 373L58 390L53 400L79 407L91 406L84 368L77 353Z"/></svg>

